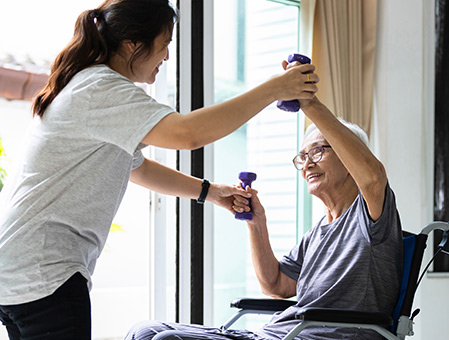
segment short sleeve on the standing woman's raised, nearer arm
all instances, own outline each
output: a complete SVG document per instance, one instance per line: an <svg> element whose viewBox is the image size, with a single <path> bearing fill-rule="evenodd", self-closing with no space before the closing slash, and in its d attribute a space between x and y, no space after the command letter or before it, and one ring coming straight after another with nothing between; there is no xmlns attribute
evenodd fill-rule
<svg viewBox="0 0 449 340"><path fill-rule="evenodd" d="M114 144L133 155L141 140L166 115L174 112L119 74L97 81L87 107L91 138Z"/></svg>

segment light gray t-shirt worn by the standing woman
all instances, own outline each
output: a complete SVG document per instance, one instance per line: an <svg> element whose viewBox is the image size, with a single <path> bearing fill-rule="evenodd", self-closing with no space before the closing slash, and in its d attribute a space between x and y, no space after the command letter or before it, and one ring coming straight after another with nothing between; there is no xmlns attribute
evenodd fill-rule
<svg viewBox="0 0 449 340"><path fill-rule="evenodd" d="M90 283L140 141L174 110L105 65L79 72L36 118L0 194L0 304Z"/></svg>

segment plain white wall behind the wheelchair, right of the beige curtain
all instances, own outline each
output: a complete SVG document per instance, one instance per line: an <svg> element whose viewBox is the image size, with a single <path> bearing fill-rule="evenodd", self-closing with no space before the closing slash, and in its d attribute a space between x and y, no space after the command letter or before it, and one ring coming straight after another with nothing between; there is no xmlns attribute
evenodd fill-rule
<svg viewBox="0 0 449 340"><path fill-rule="evenodd" d="M435 1L379 0L378 10L376 150L403 228L419 232L433 219ZM413 339L448 338L447 287L449 276L426 276L421 283Z"/></svg>

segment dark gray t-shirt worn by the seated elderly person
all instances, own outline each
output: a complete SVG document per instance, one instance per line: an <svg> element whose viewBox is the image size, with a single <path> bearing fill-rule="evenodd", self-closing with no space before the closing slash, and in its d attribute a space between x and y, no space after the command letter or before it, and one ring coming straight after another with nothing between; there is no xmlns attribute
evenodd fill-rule
<svg viewBox="0 0 449 340"><path fill-rule="evenodd" d="M328 307L383 312L390 315L398 298L402 274L402 229L389 186L382 216L373 222L359 193L332 223L324 217L280 261L281 271L297 281L298 303L273 317L256 333L279 339L298 323L301 307ZM307 328L303 339L383 339L373 331Z"/></svg>

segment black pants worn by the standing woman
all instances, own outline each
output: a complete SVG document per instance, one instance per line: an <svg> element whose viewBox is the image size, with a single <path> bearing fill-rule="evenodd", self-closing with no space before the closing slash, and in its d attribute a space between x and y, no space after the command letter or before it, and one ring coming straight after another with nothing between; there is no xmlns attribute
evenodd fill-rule
<svg viewBox="0 0 449 340"><path fill-rule="evenodd" d="M0 321L11 340L90 340L86 279L76 273L50 296L20 305L0 306Z"/></svg>

